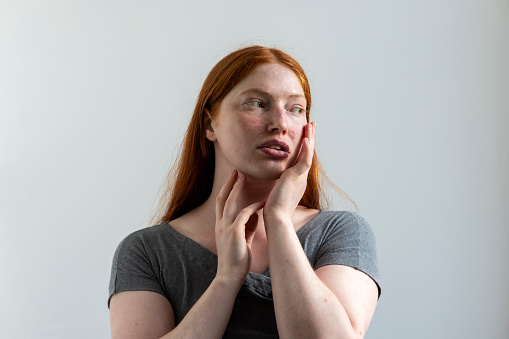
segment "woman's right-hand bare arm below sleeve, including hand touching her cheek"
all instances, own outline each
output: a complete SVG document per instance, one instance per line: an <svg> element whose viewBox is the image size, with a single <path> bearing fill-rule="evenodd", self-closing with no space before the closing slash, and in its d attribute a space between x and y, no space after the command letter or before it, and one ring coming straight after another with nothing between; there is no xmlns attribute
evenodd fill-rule
<svg viewBox="0 0 509 339"><path fill-rule="evenodd" d="M302 197L313 159L315 124L304 127L299 159L278 180L264 207L269 267L281 338L362 338L378 289L366 274L309 264L291 217Z"/></svg>

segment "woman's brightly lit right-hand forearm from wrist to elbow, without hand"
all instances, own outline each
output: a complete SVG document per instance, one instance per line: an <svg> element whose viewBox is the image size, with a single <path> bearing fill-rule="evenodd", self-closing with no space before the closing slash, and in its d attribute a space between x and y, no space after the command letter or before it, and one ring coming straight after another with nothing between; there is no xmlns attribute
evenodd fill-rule
<svg viewBox="0 0 509 339"><path fill-rule="evenodd" d="M357 338L336 296L316 276L291 220L264 218L281 338Z"/></svg>

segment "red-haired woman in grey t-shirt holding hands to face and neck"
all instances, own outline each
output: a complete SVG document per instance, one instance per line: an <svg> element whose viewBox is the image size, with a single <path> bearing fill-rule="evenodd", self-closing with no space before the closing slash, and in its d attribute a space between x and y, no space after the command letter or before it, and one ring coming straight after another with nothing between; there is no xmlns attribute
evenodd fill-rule
<svg viewBox="0 0 509 339"><path fill-rule="evenodd" d="M280 50L244 48L212 69L159 225L115 253L113 338L363 337L374 237L356 213L322 210L310 106Z"/></svg>

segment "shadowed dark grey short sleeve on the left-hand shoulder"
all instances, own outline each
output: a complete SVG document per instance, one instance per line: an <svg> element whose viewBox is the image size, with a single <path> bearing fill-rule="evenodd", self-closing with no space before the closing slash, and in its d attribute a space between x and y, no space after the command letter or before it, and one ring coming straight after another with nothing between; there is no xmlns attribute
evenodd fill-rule
<svg viewBox="0 0 509 339"><path fill-rule="evenodd" d="M152 291L164 295L155 272L143 239L136 232L127 236L113 256L108 307L111 297L119 292Z"/></svg>

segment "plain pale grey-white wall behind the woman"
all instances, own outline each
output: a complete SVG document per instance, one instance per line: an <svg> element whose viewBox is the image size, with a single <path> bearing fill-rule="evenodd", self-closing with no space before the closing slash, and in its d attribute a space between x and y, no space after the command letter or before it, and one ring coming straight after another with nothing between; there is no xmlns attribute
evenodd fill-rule
<svg viewBox="0 0 509 339"><path fill-rule="evenodd" d="M109 337L114 250L250 44L307 70L319 155L375 231L367 338L509 337L502 0L0 0L0 337Z"/></svg>

